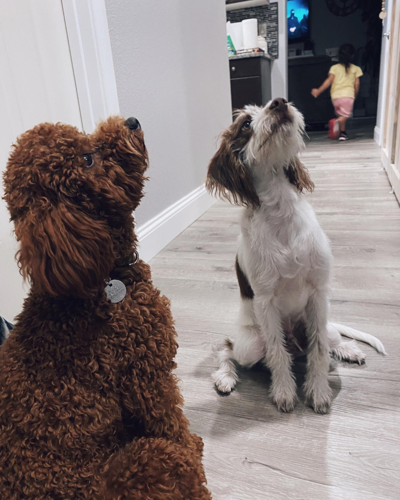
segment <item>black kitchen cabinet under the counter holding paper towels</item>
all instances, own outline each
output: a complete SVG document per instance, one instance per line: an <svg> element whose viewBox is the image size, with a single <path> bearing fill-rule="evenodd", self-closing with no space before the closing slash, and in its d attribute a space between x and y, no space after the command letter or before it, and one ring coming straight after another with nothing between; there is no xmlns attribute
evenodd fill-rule
<svg viewBox="0 0 400 500"><path fill-rule="evenodd" d="M271 61L269 58L230 59L232 109L246 104L264 106L271 99Z"/></svg>

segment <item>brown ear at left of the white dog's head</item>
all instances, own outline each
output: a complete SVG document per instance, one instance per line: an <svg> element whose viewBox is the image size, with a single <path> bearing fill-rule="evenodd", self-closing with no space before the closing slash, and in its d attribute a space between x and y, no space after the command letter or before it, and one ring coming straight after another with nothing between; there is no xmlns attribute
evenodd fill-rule
<svg viewBox="0 0 400 500"><path fill-rule="evenodd" d="M234 153L227 140L222 140L208 166L206 188L211 194L240 206L260 205L251 172Z"/></svg>

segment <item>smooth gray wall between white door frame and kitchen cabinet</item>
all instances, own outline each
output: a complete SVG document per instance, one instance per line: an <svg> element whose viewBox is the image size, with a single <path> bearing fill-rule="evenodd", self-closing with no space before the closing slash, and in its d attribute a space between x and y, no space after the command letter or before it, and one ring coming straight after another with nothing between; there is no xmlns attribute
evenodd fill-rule
<svg viewBox="0 0 400 500"><path fill-rule="evenodd" d="M204 182L231 122L224 0L106 0L121 114L136 116L150 168L138 226Z"/></svg>

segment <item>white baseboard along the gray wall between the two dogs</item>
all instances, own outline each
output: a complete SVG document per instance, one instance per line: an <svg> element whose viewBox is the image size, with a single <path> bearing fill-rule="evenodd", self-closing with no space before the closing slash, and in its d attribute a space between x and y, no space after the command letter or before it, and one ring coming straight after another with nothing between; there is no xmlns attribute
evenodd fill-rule
<svg viewBox="0 0 400 500"><path fill-rule="evenodd" d="M136 231L140 258L148 262L215 202L203 185L144 223Z"/></svg>

